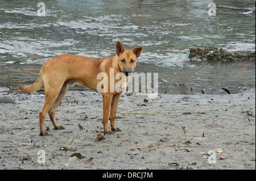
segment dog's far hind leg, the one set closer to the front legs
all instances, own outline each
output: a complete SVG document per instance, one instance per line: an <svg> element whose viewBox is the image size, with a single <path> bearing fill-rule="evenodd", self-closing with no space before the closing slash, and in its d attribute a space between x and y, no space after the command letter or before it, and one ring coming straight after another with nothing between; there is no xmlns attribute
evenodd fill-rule
<svg viewBox="0 0 256 181"><path fill-rule="evenodd" d="M57 107L59 107L61 100L64 98L67 90L68 90L68 84L64 83L63 87L60 90L59 95L57 96L57 99L55 100L55 102L52 104L52 107L48 111L49 117L55 129L65 129L62 125L57 124L55 119L55 112L57 110Z"/></svg>

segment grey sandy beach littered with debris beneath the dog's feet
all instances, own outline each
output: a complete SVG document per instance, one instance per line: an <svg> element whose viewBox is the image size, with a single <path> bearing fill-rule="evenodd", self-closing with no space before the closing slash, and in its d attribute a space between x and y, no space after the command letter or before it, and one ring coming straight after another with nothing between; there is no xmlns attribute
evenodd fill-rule
<svg viewBox="0 0 256 181"><path fill-rule="evenodd" d="M6 95L0 92L0 99ZM56 112L65 129L53 129L47 116L45 137L39 136L44 95L8 95L15 104L0 103L1 170L255 169L254 89L229 95L124 93L115 119L122 131L101 140L101 94L68 91Z"/></svg>

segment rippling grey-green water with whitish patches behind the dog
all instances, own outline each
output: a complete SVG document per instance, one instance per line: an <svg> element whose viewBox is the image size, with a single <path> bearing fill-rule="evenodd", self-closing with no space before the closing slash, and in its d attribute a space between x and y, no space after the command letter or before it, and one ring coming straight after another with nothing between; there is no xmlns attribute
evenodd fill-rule
<svg viewBox="0 0 256 181"><path fill-rule="evenodd" d="M37 12L39 2L46 7L45 16ZM255 51L255 1L214 1L216 16L208 15L210 2L0 0L0 86L34 82L37 68L58 54L115 56L120 40L126 49L143 45L135 71L158 73L159 92L255 89L255 61L179 58L191 47Z"/></svg>

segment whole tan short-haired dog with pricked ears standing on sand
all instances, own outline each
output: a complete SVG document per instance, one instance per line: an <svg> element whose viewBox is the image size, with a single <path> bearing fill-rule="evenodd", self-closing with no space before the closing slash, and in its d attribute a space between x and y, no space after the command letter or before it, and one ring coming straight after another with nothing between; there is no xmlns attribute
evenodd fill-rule
<svg viewBox="0 0 256 181"><path fill-rule="evenodd" d="M123 45L117 41L115 44L114 57L105 58L89 58L72 54L61 54L53 57L42 65L38 79L30 86L19 86L18 89L24 92L34 92L44 85L46 94L46 102L42 111L39 113L40 120L40 136L46 136L48 133L44 131L44 120L47 112L55 129L64 129L62 125L57 124L55 120L55 112L68 90L68 86L74 86L75 83L86 86L94 91L98 91L98 84L101 79L97 79L99 73L105 73L108 77L113 77L111 72L116 75L122 73L126 79L126 86L130 80L129 73L133 73L137 58L141 55L142 47L135 47L133 50L126 50ZM111 71L113 70L113 71ZM118 80L114 80L114 85ZM106 82L105 82L106 83ZM103 98L103 118L104 132L112 134L115 131L121 131L115 127L115 113L122 91L113 90L113 86L108 79L108 89L101 92ZM103 89L105 86L102 85ZM126 88L126 87L125 87ZM111 110L110 110L111 107ZM108 127L110 110L110 125Z"/></svg>

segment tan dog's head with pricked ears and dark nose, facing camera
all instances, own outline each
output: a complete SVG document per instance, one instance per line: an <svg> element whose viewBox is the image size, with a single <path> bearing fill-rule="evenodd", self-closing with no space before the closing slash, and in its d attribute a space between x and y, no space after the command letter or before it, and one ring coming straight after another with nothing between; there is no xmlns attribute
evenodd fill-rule
<svg viewBox="0 0 256 181"><path fill-rule="evenodd" d="M115 53L118 55L119 68L126 76L133 74L137 58L141 55L142 48L135 47L133 50L126 50L119 41L115 44Z"/></svg>

